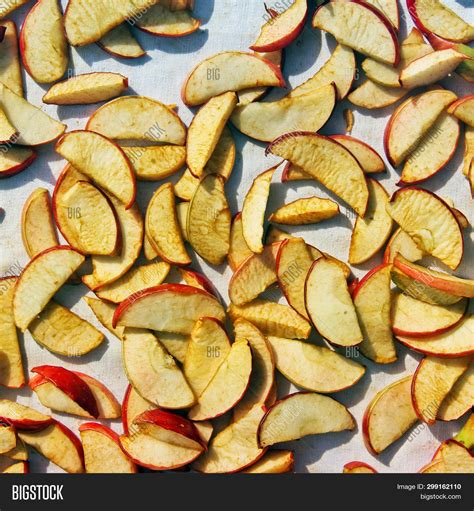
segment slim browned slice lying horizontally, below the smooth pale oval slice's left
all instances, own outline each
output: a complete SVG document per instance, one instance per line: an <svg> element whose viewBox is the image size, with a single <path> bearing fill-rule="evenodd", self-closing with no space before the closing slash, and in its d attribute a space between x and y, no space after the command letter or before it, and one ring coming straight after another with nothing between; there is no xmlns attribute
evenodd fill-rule
<svg viewBox="0 0 474 511"><path fill-rule="evenodd" d="M254 300L242 306L230 304L227 310L232 321L238 318L253 323L265 335L288 339L307 339L311 325L291 307L266 300Z"/></svg>

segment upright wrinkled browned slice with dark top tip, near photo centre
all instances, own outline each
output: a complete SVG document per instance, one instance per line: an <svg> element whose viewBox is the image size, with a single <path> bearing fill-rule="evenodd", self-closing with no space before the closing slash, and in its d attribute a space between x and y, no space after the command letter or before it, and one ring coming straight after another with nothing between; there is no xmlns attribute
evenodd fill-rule
<svg viewBox="0 0 474 511"><path fill-rule="evenodd" d="M188 241L211 264L221 264L229 252L231 216L224 184L217 174L204 176L188 210Z"/></svg>

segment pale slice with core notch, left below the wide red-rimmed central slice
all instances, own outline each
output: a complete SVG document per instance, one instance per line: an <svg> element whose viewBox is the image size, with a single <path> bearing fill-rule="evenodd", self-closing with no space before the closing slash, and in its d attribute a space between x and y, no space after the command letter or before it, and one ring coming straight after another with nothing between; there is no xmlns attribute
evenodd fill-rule
<svg viewBox="0 0 474 511"><path fill-rule="evenodd" d="M127 328L122 344L125 372L135 390L164 408L189 408L196 400L180 368L151 332Z"/></svg>

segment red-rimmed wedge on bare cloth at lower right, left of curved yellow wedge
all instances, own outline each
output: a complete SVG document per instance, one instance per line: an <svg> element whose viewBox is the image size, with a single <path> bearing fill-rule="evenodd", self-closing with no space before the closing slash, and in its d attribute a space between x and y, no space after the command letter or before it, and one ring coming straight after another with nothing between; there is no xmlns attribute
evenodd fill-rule
<svg viewBox="0 0 474 511"><path fill-rule="evenodd" d="M388 385L372 399L362 421L364 442L380 454L401 438L418 420L411 401L412 376Z"/></svg>

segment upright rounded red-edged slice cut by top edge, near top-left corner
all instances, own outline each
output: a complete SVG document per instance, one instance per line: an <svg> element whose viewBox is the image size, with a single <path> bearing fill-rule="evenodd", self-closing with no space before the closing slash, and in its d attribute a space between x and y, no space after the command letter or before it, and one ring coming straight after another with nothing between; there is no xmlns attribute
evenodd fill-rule
<svg viewBox="0 0 474 511"><path fill-rule="evenodd" d="M20 32L23 65L38 83L59 80L69 61L63 13L58 0L38 0Z"/></svg>

